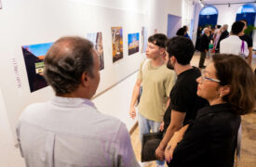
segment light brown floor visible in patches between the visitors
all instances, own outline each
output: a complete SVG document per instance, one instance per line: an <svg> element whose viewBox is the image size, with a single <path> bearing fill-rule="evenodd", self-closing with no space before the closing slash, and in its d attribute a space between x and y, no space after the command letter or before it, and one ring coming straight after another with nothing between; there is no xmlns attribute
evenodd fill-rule
<svg viewBox="0 0 256 167"><path fill-rule="evenodd" d="M192 59L192 65L198 65L199 53L195 53ZM206 65L209 63L209 59L206 59ZM252 60L252 69L256 68L256 58ZM139 139L138 127L131 135L131 143L134 149L136 158L141 161L141 143ZM167 166L167 165L166 165ZM256 113L250 113L242 116L242 145L241 145L241 157L238 163L238 167L254 167L256 166ZM155 167L153 162L149 167Z"/></svg>

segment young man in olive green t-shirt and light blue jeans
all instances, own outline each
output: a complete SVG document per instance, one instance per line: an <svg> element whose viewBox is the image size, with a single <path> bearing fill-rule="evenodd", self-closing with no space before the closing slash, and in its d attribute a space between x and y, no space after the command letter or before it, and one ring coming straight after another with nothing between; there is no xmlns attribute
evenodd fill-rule
<svg viewBox="0 0 256 167"><path fill-rule="evenodd" d="M150 131L158 132L163 130L163 117L169 103L169 92L176 82L176 74L170 71L165 63L165 42L167 36L162 33L155 33L148 38L146 49L147 60L141 63L137 82L134 85L130 103L129 115L132 119L136 117L135 102L139 96L140 86L142 94L139 103L138 122L140 138L142 134ZM156 161L158 166L164 161Z"/></svg>

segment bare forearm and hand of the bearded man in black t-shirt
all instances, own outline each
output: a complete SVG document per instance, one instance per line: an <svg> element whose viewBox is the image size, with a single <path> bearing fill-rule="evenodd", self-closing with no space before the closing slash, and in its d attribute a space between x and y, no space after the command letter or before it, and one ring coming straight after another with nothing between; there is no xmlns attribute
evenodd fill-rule
<svg viewBox="0 0 256 167"><path fill-rule="evenodd" d="M176 131L182 128L185 115L186 115L185 112L180 112L180 111L171 109L171 114L170 114L171 121L168 125L167 132L164 135L164 138L162 139L158 148L156 148L155 150L155 155L159 160L162 160L162 161L164 160L165 148L168 145L168 141Z"/></svg>

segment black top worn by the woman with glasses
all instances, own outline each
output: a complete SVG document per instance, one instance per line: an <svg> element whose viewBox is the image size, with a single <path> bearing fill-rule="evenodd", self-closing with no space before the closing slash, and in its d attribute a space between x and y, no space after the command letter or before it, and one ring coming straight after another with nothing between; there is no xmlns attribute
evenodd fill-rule
<svg viewBox="0 0 256 167"><path fill-rule="evenodd" d="M173 152L171 167L233 167L241 117L227 103L199 109Z"/></svg>

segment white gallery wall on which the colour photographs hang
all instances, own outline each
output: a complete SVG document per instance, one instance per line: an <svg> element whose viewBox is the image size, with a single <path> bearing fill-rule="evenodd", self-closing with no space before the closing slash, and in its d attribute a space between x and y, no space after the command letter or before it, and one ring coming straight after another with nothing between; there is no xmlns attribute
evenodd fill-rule
<svg viewBox="0 0 256 167"><path fill-rule="evenodd" d="M93 102L105 114L115 116L130 129L136 120L128 116L140 52L128 56L128 33L148 29L148 36L167 32L168 14L182 17L177 0L1 0L0 9L0 166L22 167L15 126L22 110L34 102L49 100L47 86L30 92L21 45L54 42L61 36L86 37L102 32L104 70ZM123 27L124 58L113 63L111 27Z"/></svg>

